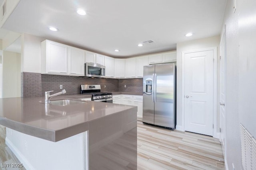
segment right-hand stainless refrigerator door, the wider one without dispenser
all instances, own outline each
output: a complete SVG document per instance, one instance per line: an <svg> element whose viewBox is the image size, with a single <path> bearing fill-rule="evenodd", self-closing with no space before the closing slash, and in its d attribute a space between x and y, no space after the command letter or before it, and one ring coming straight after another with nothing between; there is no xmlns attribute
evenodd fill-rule
<svg viewBox="0 0 256 170"><path fill-rule="evenodd" d="M156 74L156 101L154 110L154 124L175 128L175 65L157 64Z"/></svg>

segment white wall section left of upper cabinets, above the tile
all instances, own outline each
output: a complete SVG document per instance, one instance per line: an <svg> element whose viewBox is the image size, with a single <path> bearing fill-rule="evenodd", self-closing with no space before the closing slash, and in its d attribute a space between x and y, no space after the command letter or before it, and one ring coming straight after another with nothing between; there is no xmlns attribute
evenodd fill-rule
<svg viewBox="0 0 256 170"><path fill-rule="evenodd" d="M44 38L22 33L21 72L41 72L41 42Z"/></svg>

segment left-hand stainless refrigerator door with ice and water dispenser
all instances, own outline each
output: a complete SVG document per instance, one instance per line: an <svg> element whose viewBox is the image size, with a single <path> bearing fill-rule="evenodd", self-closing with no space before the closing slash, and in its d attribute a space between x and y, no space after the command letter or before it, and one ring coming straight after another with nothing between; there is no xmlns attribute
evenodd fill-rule
<svg viewBox="0 0 256 170"><path fill-rule="evenodd" d="M153 102L153 75L155 72L155 66L144 66L143 70L143 115L142 121L150 124L154 124L154 102ZM146 84L152 82L152 92L146 92Z"/></svg>

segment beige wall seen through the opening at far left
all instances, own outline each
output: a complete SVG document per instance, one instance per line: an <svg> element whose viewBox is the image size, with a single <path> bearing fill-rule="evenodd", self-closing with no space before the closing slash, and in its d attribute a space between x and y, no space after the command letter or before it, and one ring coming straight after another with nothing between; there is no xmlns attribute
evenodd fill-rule
<svg viewBox="0 0 256 170"><path fill-rule="evenodd" d="M20 54L3 51L2 60L2 98L20 97Z"/></svg>

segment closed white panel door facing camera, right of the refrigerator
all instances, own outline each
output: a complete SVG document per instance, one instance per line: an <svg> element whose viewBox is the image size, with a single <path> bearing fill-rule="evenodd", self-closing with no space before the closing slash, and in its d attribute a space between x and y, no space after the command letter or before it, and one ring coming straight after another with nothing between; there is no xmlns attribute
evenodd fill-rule
<svg viewBox="0 0 256 170"><path fill-rule="evenodd" d="M214 51L184 55L185 131L213 136Z"/></svg>

